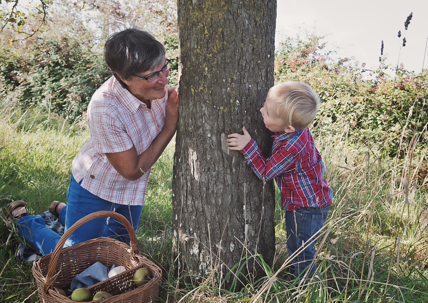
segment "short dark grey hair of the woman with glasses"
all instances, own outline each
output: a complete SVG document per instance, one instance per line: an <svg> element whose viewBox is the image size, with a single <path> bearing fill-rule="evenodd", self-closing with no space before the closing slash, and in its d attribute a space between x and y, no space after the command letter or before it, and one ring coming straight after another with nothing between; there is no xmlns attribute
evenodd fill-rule
<svg viewBox="0 0 428 303"><path fill-rule="evenodd" d="M128 28L113 33L104 46L104 60L116 79L128 80L132 74L155 69L165 60L165 48L150 33L139 28Z"/></svg>

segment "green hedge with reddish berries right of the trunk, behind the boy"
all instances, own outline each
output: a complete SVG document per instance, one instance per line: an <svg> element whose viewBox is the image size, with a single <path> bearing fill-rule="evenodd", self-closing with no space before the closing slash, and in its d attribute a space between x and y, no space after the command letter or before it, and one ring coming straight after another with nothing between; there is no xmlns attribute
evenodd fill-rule
<svg viewBox="0 0 428 303"><path fill-rule="evenodd" d="M332 60L333 53L324 50L321 39L315 35L289 38L276 49L275 60L276 83L306 82L318 93L322 103L314 126L324 132L344 131L351 144L365 144L366 151L371 153L380 151L378 147L385 140L390 157L400 153L400 145L413 143L414 134L422 142L428 123L427 70L415 75L401 66L395 79L386 73L391 67L382 61L373 72L375 79L364 80L363 75L368 72L365 63L358 67L348 58ZM402 134L404 126L409 130ZM421 152L417 146L415 153Z"/></svg>

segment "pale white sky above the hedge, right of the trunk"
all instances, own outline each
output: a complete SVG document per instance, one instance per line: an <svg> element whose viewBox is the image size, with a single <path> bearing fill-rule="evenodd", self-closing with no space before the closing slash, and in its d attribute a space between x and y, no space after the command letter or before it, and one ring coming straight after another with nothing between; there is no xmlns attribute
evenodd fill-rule
<svg viewBox="0 0 428 303"><path fill-rule="evenodd" d="M288 36L305 36L305 31L325 36L327 50L340 57L354 57L366 69L379 66L380 46L386 63L403 63L404 68L420 72L428 38L428 0L277 0L275 43ZM405 35L404 21L410 12ZM402 47L403 38L406 46ZM401 46L401 51L400 51ZM428 68L428 51L424 68Z"/></svg>

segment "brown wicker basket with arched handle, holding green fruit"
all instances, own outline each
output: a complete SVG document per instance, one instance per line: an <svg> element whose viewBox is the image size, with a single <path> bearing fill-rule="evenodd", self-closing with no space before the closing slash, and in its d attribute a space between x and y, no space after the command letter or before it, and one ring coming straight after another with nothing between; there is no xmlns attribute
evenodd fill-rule
<svg viewBox="0 0 428 303"><path fill-rule="evenodd" d="M62 248L68 237L80 225L100 217L111 217L122 222L131 237L131 247L119 240L99 237ZM68 290L74 276L95 262L101 262L107 267L111 267L113 264L124 266L127 270L89 287L92 296L98 291L109 292L113 296L103 300L105 303L149 303L158 300L162 270L139 254L137 237L128 220L121 214L111 211L99 211L83 217L64 233L52 253L34 261L33 276L36 279L40 300L45 303L74 303L70 297L59 294L56 288ZM147 267L151 271L153 279L145 285L137 287L130 280L140 267ZM127 292L125 293L125 291Z"/></svg>

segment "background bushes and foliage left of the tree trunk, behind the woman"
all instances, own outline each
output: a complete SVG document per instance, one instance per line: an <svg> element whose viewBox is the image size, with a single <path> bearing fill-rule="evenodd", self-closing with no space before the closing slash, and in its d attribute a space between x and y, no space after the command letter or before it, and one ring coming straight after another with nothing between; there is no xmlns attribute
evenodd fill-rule
<svg viewBox="0 0 428 303"><path fill-rule="evenodd" d="M111 76L103 59L103 43L109 33L124 27L122 24L149 30L165 44L166 57L172 59L170 85L177 84L175 2L79 0L70 5L59 0L51 9L45 33L38 31L24 39L27 36L13 27L2 32L2 103L12 103L24 111L43 108L44 113L60 114L71 121L83 117L92 94ZM30 31L35 30L35 20L42 15L33 13L25 27Z"/></svg>

